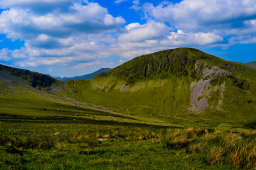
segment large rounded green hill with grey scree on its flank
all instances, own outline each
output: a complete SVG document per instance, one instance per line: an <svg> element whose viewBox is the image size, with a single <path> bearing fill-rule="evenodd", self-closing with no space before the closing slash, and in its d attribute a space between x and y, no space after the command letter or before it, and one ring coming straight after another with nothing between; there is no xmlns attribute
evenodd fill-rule
<svg viewBox="0 0 256 170"><path fill-rule="evenodd" d="M171 122L256 122L256 70L191 48L143 55L90 80L67 81L58 95Z"/></svg>

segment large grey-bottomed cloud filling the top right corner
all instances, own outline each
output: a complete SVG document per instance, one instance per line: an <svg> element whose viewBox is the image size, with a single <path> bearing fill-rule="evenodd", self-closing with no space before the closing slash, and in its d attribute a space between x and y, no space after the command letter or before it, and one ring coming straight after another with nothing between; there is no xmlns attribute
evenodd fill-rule
<svg viewBox="0 0 256 170"><path fill-rule="evenodd" d="M256 1L251 0L183 0L176 4L146 3L146 15L174 24L178 29L216 29L239 27L256 16Z"/></svg>

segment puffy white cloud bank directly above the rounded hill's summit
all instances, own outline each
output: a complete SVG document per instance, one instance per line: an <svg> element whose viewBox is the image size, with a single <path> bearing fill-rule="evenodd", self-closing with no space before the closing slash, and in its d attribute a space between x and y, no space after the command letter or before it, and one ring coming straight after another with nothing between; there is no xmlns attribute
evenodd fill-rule
<svg viewBox="0 0 256 170"><path fill-rule="evenodd" d="M214 32L175 31L156 21L148 21L142 25L130 23L125 28L126 33L119 35L117 42L110 45L110 50L126 59L173 47L206 47L223 41Z"/></svg>

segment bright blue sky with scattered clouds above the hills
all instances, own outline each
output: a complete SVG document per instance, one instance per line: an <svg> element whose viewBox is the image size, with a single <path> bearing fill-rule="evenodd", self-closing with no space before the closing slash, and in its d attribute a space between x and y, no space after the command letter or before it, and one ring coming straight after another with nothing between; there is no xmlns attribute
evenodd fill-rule
<svg viewBox="0 0 256 170"><path fill-rule="evenodd" d="M58 77L195 47L256 61L255 0L0 0L0 63Z"/></svg>

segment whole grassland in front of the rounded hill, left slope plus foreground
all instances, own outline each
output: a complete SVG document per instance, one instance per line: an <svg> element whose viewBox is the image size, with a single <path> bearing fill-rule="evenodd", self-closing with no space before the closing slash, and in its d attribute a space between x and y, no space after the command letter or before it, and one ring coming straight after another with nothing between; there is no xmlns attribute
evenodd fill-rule
<svg viewBox="0 0 256 170"><path fill-rule="evenodd" d="M126 115L1 86L0 169L256 167L256 132L239 125Z"/></svg>

